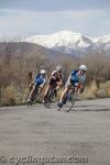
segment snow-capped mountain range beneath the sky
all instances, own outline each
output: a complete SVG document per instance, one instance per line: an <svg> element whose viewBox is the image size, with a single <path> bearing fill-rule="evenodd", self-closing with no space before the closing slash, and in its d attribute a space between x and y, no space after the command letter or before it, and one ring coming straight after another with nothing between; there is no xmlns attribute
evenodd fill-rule
<svg viewBox="0 0 110 165"><path fill-rule="evenodd" d="M63 53L87 53L89 51L110 50L110 35L92 38L70 31L61 31L52 35L35 35L24 40Z"/></svg>

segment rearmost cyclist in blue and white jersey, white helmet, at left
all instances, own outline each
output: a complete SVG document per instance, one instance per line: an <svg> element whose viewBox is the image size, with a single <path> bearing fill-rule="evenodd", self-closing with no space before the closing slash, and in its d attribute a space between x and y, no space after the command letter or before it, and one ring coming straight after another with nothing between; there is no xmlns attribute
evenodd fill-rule
<svg viewBox="0 0 110 165"><path fill-rule="evenodd" d="M38 94L44 88L44 86L46 84L45 76L46 76L46 70L41 69L40 74L36 75L34 81L32 81L32 84L31 84L32 90L30 91L29 99L26 100L28 102L30 102L32 100L32 97L33 97L36 88L38 88Z"/></svg>

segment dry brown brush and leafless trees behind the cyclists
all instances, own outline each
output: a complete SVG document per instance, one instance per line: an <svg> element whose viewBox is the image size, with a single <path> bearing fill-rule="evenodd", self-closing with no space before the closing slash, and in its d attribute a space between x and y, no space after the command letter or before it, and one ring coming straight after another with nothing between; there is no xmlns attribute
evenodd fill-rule
<svg viewBox="0 0 110 165"><path fill-rule="evenodd" d="M57 57L52 61L44 54L31 56L22 55L21 52L15 55L7 43L3 48L4 55L0 55L0 106L25 103L29 84L41 68L46 69L50 76L56 65L63 65L65 82L69 72L77 69L82 63L88 66L88 72L87 86L80 99L110 97L110 57L103 53L87 54L84 57Z"/></svg>

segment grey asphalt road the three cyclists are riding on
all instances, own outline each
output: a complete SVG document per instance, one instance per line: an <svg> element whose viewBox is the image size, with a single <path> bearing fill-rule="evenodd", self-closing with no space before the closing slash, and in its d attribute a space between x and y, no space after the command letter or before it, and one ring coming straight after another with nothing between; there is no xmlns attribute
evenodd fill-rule
<svg viewBox="0 0 110 165"><path fill-rule="evenodd" d="M110 165L110 99L0 108L0 165Z"/></svg>

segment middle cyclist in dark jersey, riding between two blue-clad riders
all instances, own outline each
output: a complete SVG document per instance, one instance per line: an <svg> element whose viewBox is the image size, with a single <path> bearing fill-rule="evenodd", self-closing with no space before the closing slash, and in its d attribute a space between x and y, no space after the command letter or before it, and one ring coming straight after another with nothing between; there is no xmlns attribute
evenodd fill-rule
<svg viewBox="0 0 110 165"><path fill-rule="evenodd" d="M45 95L44 95L44 101L46 100L46 97L47 97L50 88L54 88L55 89L54 94L55 94L55 97L57 97L57 90L63 85L62 73L63 73L63 67L62 66L57 66L56 70L54 70L51 74L51 77L48 79L48 86L47 86Z"/></svg>

